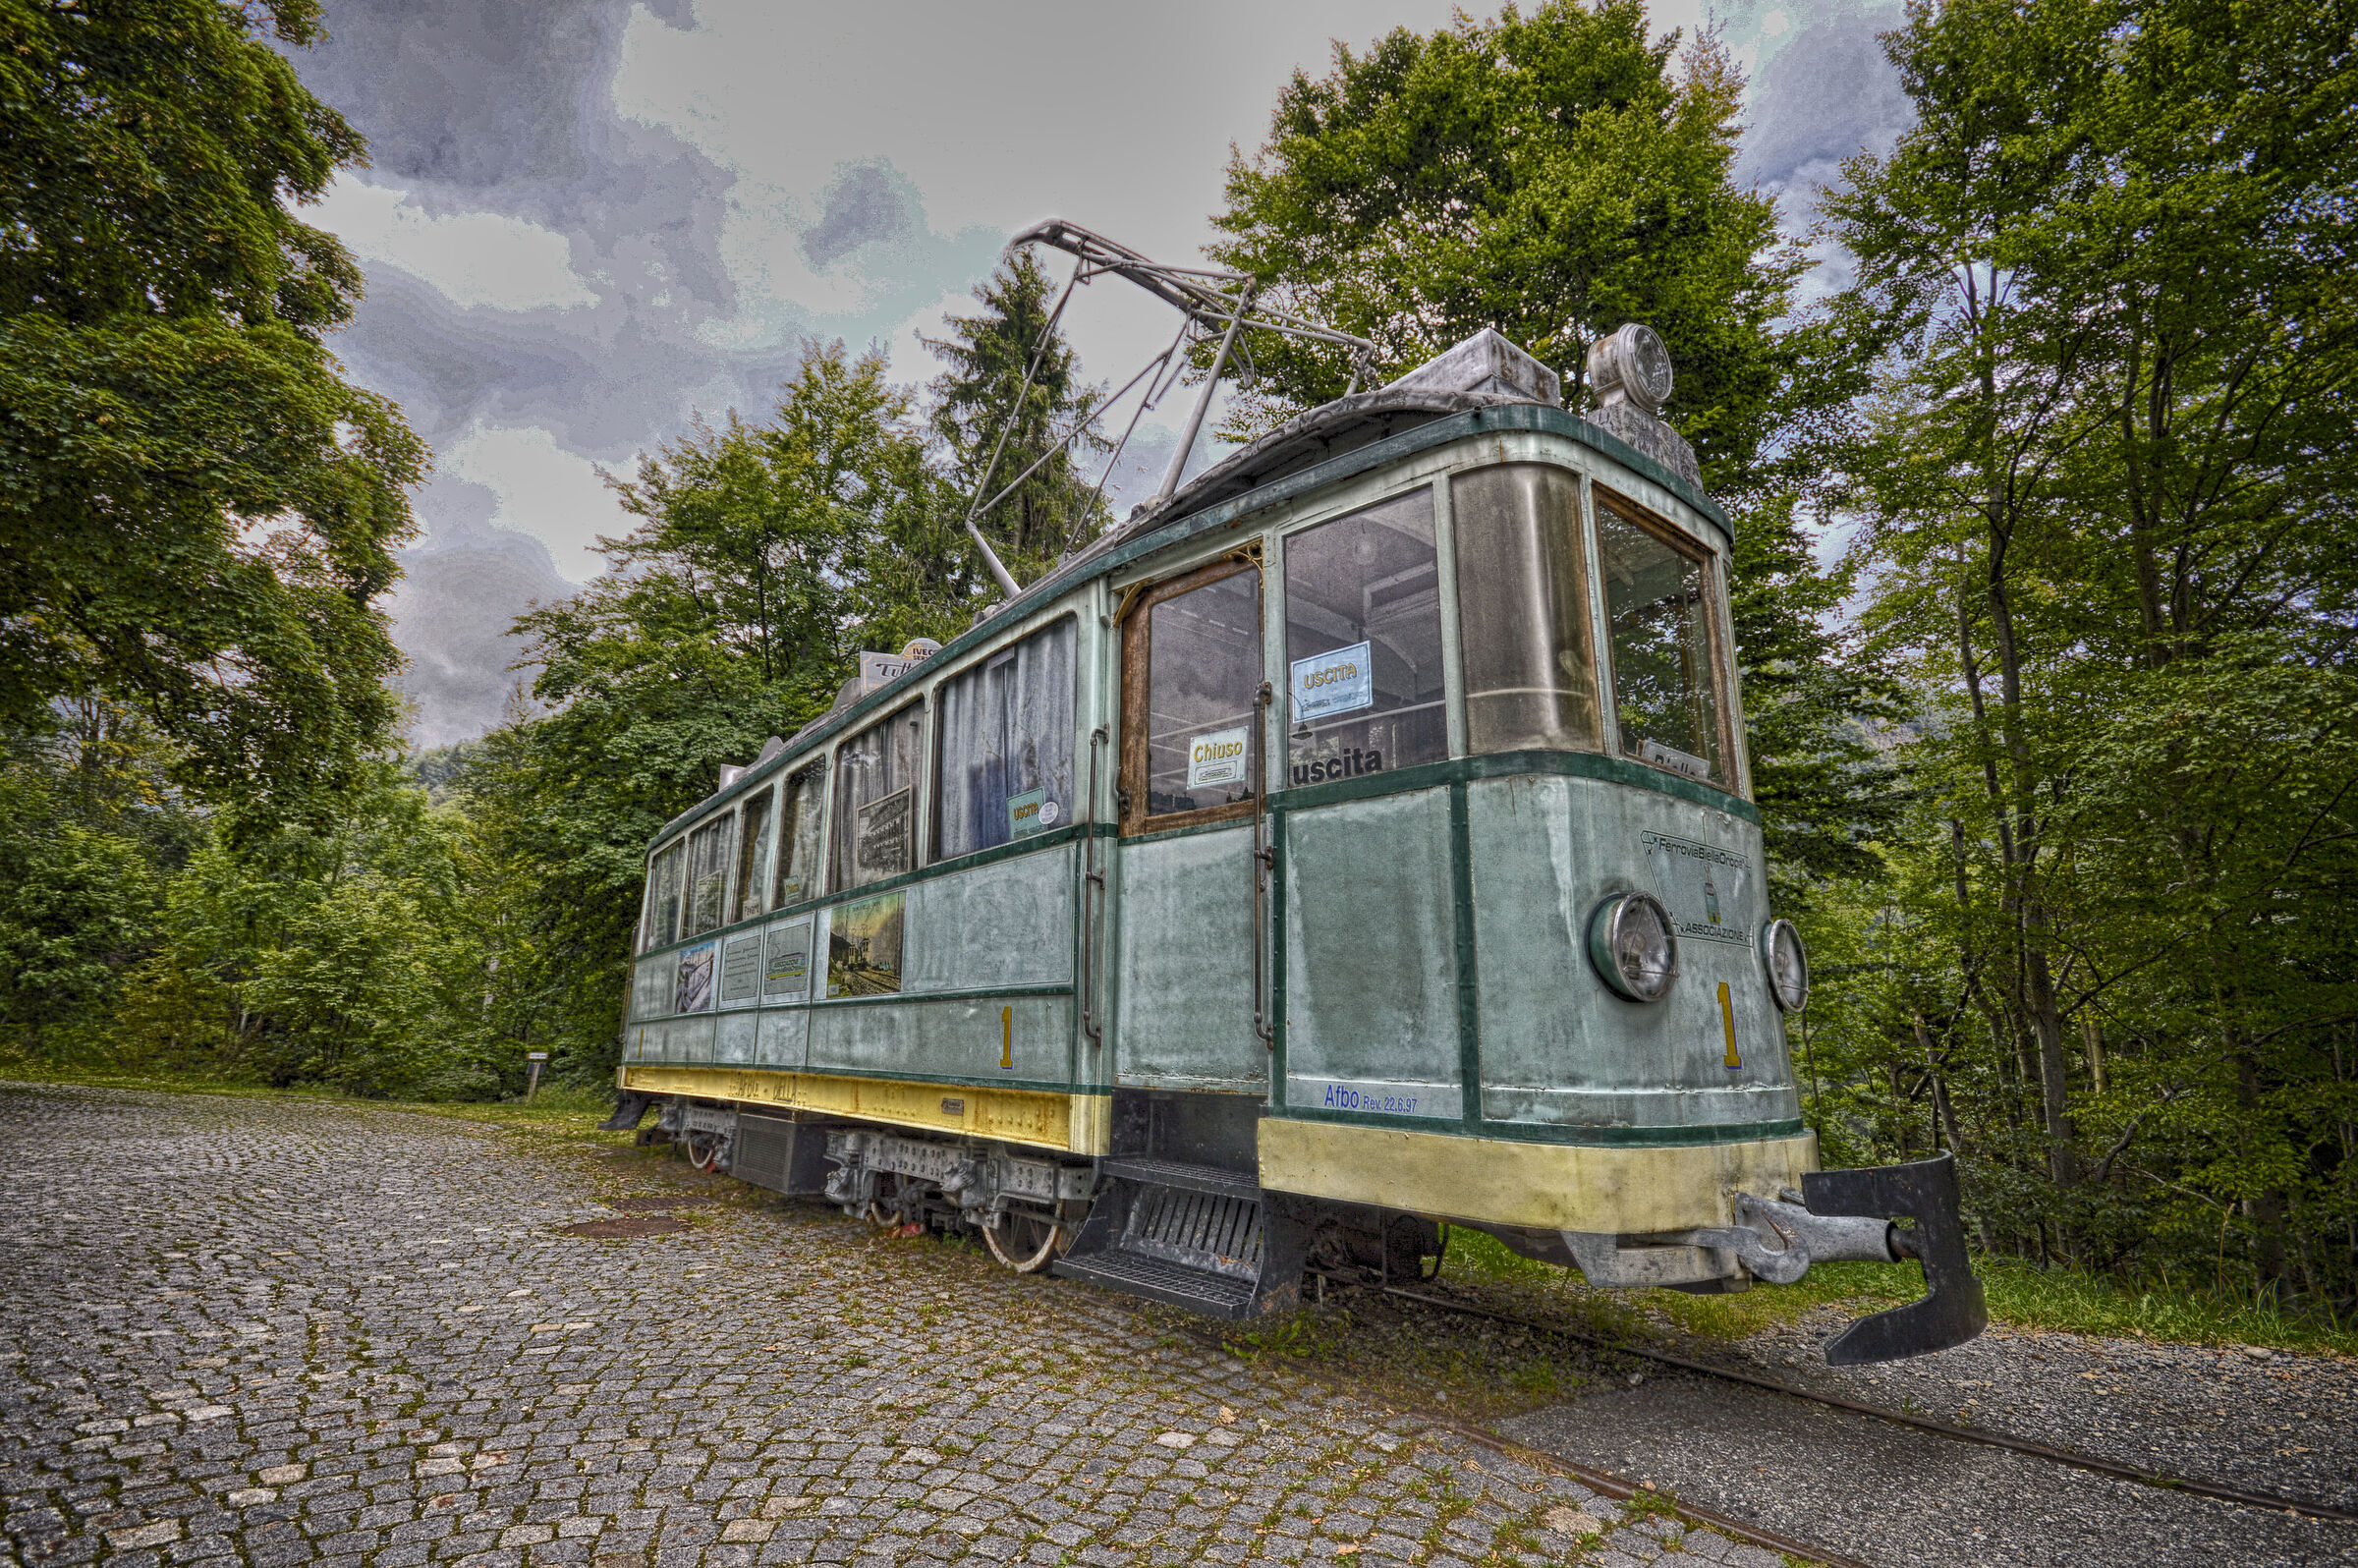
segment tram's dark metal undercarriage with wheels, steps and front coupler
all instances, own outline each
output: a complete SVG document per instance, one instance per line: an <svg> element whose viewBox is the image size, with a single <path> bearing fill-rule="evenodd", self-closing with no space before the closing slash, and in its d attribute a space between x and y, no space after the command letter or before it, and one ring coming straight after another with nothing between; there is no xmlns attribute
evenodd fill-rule
<svg viewBox="0 0 2358 1568"><path fill-rule="evenodd" d="M1155 1151L1172 1134L1217 1148L1217 1120L1233 1118L1207 1125L1203 1106L1177 1096L1122 1099L1118 1137L1139 1153L1101 1158L630 1092L606 1127L634 1127L658 1108L639 1141L677 1144L696 1170L823 1198L884 1231L974 1233L1016 1273L1054 1271L1214 1318L1287 1311L1328 1280L1431 1278L1448 1245L1443 1226L1462 1226L1599 1287L1719 1294L1754 1280L1792 1285L1825 1261L1922 1264L1924 1299L1837 1335L1827 1344L1835 1365L1917 1356L1981 1327L1945 1155L1804 1172L1799 1188L1768 1195L1735 1191L1731 1224L1719 1226L1563 1231L1264 1188L1245 1170ZM1172 1125L1174 1113L1184 1125ZM1238 1141L1233 1129L1226 1141Z"/></svg>

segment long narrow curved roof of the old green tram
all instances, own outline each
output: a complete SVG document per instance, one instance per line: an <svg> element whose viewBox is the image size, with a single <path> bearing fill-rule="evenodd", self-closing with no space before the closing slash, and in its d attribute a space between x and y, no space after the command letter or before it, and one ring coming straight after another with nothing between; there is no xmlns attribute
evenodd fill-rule
<svg viewBox="0 0 2358 1568"><path fill-rule="evenodd" d="M776 752L747 766L726 788L714 790L667 821L648 842L660 844L691 821L773 778L814 745L823 745L896 705L929 670L938 670L943 660L953 660L983 644L1007 625L1009 615L1021 618L1045 608L1082 582L1115 573L1132 561L1170 549L1172 545L1184 545L1214 528L1226 528L1295 495L1436 446L1448 446L1464 436L1497 431L1537 431L1578 441L1601 457L1611 457L1625 469L1662 486L1719 528L1731 545L1735 542L1735 523L1728 521L1728 514L1684 474L1672 472L1620 436L1554 403L1533 403L1495 391L1443 391L1431 387L1377 387L1375 391L1358 391L1295 415L1266 436L1240 446L1203 474L1196 474L1196 479L1179 486L1172 495L1134 507L1125 521L1096 535L1021 594L990 606L974 625L943 644L938 653L920 665L910 665L903 674L861 696L856 703L804 724Z"/></svg>

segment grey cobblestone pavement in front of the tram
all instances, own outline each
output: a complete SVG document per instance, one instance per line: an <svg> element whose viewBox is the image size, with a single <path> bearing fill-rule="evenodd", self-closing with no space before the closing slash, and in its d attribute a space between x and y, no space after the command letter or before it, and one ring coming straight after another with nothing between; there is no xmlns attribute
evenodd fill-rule
<svg viewBox="0 0 2358 1568"><path fill-rule="evenodd" d="M556 1231L660 1179L422 1115L0 1087L5 1549L1780 1563L1160 1335L1120 1299L825 1210Z"/></svg>

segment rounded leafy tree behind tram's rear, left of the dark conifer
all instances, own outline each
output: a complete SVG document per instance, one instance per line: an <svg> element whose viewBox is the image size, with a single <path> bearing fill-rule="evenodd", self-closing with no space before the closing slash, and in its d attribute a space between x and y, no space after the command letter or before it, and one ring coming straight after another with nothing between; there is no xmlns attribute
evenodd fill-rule
<svg viewBox="0 0 2358 1568"><path fill-rule="evenodd" d="M606 575L519 622L540 712L460 776L514 896L500 1028L542 1030L578 1073L613 1063L656 832L828 712L861 646L964 627L903 549L941 531L943 495L880 356L809 344L766 424L700 427L618 488L639 526L606 540Z"/></svg>

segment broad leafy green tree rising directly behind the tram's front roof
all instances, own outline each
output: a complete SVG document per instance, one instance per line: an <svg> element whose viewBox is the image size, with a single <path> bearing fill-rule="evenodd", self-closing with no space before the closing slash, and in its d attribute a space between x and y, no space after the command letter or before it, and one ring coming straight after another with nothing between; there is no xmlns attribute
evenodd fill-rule
<svg viewBox="0 0 2358 1568"><path fill-rule="evenodd" d="M1677 68L1674 68L1677 66ZM1379 349L1375 380L1497 328L1563 370L1644 321L1679 361L1669 417L1712 488L1745 474L1785 368L1773 323L1802 259L1733 177L1743 78L1705 35L1646 35L1639 0L1398 28L1295 73L1269 141L1229 165L1212 255ZM1252 340L1238 429L1342 394L1346 361Z"/></svg>

